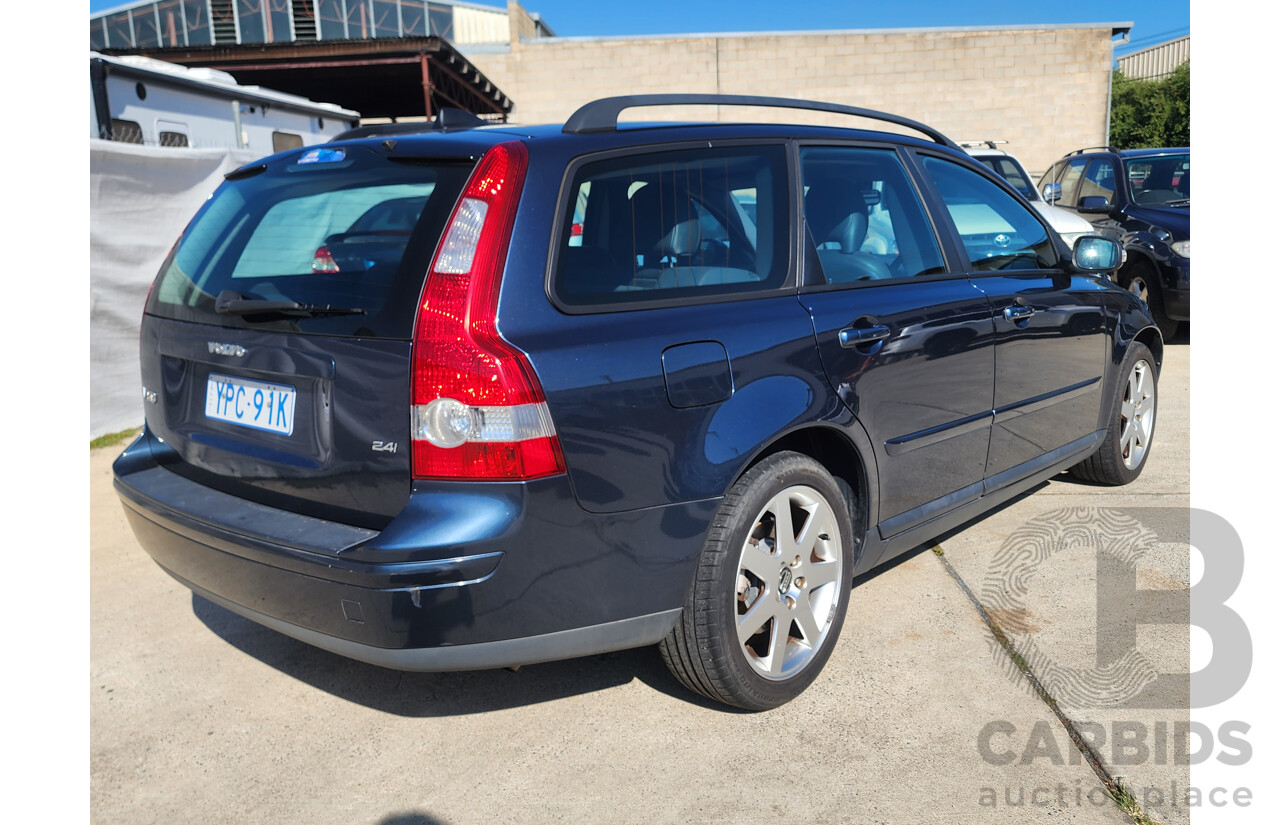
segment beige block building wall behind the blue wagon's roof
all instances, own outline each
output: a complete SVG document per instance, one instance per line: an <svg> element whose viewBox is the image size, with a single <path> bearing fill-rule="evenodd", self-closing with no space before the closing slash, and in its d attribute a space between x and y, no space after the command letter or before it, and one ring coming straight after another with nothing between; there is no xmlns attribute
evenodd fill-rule
<svg viewBox="0 0 1280 825"><path fill-rule="evenodd" d="M517 19L516 3L508 13ZM1032 171L1107 137L1111 27L513 38L468 55L516 101L517 123L563 122L598 97L718 92L804 97L891 111L955 141L1004 139ZM625 119L858 123L733 107L648 109Z"/></svg>

